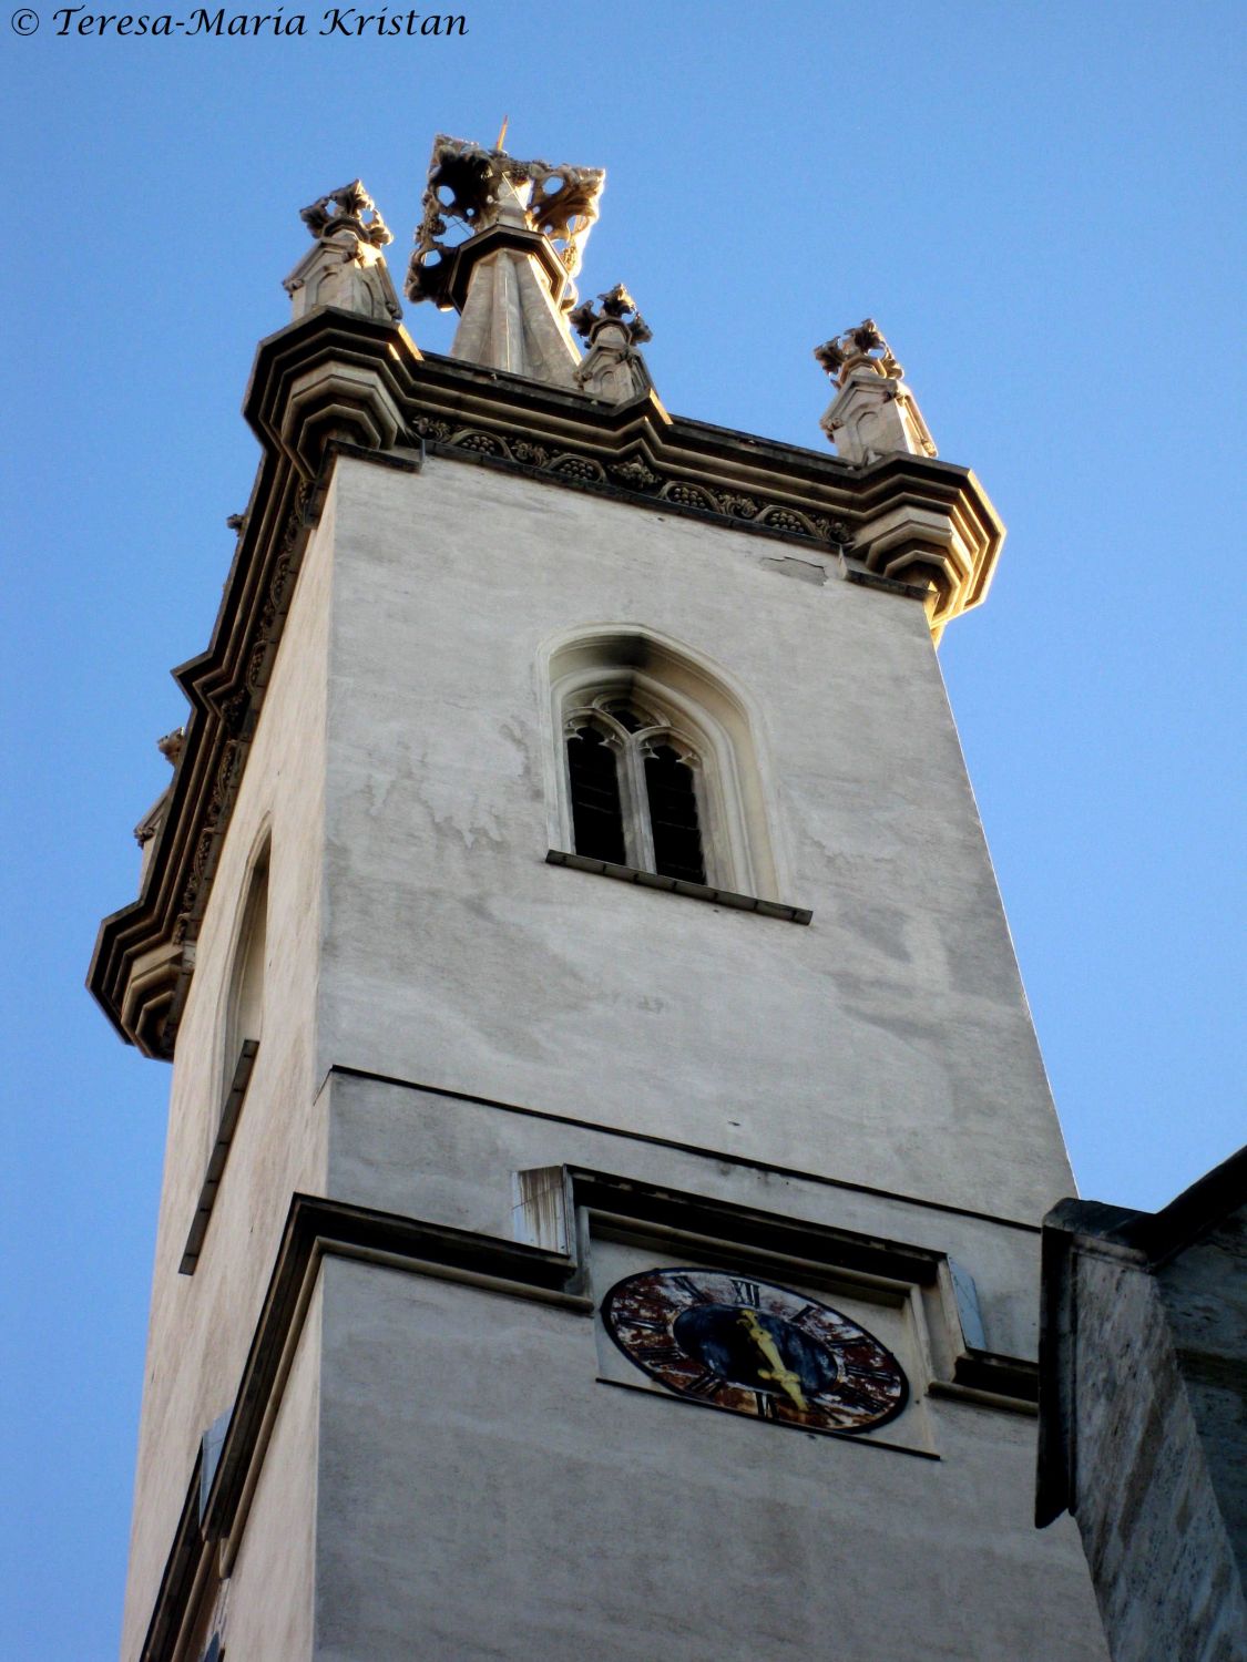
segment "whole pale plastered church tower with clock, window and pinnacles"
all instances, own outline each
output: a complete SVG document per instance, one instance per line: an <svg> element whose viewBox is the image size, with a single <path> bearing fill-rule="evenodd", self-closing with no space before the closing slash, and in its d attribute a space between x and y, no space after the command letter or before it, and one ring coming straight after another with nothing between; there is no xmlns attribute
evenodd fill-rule
<svg viewBox="0 0 1247 1662"><path fill-rule="evenodd" d="M439 136L449 356L357 181L256 356L90 972L173 1064L123 1655L1099 1662L934 655L1003 527L873 322L836 454L670 416L602 183Z"/></svg>

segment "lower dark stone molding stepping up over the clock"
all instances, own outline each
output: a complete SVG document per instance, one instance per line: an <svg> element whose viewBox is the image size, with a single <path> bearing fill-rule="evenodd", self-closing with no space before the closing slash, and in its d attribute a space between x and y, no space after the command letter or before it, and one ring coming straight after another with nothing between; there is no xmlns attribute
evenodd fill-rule
<svg viewBox="0 0 1247 1662"><path fill-rule="evenodd" d="M338 1074L376 1077L359 1075L352 1069L331 1069L329 1077ZM414 1090L432 1089L406 1080L391 1084ZM712 1158L708 1150L698 1152ZM580 1217L589 1223L602 1220L624 1225L630 1235L652 1233L662 1242L692 1237L712 1251L747 1253L752 1261L776 1270L790 1265L800 1266L806 1275L810 1270L826 1270L876 1285L888 1283L896 1290L924 1291L933 1315L939 1311L933 1338L938 1336L939 1350L946 1353L939 1360L928 1358L934 1376L923 1381L924 1388L928 1383L933 1389L939 1384L936 1394L963 1396L988 1408L1026 1406L1008 1396L958 1388L958 1371L968 1356L988 1358L1001 1373L1014 1369L1018 1378L1029 1365L1019 1358L991 1356L968 1348L953 1266L943 1251L577 1165L517 1173L517 1197L512 1212L514 1238L459 1230L326 1197L291 1197L216 1464L206 1474L200 1453L188 1474L186 1502L165 1562L140 1662L173 1662L193 1602L213 1566L221 1576L233 1569L303 1320L328 1256L459 1281L512 1298L555 1305L574 1316L592 1316L585 1261L589 1233L577 1227ZM843 1434L846 1441L861 1446L853 1434ZM918 1451L893 1448L890 1453ZM933 1458L938 1459L938 1454Z"/></svg>

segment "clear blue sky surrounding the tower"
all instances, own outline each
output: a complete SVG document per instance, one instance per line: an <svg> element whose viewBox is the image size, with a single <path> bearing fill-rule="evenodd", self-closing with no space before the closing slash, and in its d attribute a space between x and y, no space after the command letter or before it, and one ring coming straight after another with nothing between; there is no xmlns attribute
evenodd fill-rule
<svg viewBox="0 0 1247 1662"><path fill-rule="evenodd" d="M628 283L680 414L820 445L810 349L878 319L1009 525L941 660L1081 1188L1157 1207L1244 1140L1240 5L229 40L33 3L0 18L7 1662L116 1652L168 1070L81 982L248 497L251 356L298 209L356 175L401 278L437 130L607 168L582 293Z"/></svg>

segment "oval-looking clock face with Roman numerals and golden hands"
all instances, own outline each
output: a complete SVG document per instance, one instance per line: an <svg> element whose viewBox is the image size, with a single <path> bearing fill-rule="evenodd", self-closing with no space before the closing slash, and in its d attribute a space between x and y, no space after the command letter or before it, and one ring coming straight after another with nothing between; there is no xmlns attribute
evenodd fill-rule
<svg viewBox="0 0 1247 1662"><path fill-rule="evenodd" d="M617 1281L602 1321L628 1361L677 1396L806 1431L895 1419L909 1384L856 1321L773 1281L647 1270Z"/></svg>

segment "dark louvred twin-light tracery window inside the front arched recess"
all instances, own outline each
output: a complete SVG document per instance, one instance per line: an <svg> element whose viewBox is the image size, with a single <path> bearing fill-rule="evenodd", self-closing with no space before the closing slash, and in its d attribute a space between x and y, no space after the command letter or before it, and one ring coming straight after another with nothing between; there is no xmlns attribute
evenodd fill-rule
<svg viewBox="0 0 1247 1662"><path fill-rule="evenodd" d="M574 708L564 730L575 853L705 883L697 746L617 693Z"/></svg>

